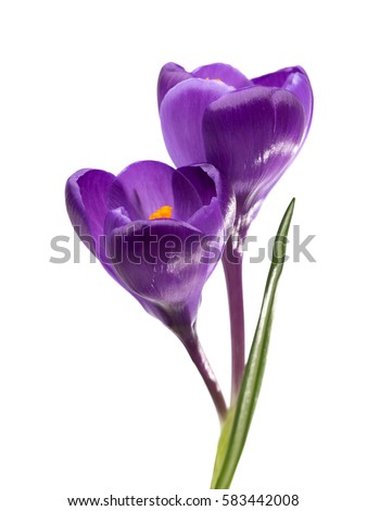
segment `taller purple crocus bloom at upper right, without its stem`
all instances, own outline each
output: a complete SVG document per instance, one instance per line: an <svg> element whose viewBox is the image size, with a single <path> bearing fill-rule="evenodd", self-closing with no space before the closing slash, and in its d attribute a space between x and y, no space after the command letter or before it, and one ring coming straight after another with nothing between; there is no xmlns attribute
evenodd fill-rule
<svg viewBox="0 0 367 511"><path fill-rule="evenodd" d="M258 208L294 159L312 120L313 94L302 67L248 79L227 64L160 74L162 130L176 165L210 162L236 198L235 233L243 238Z"/></svg>

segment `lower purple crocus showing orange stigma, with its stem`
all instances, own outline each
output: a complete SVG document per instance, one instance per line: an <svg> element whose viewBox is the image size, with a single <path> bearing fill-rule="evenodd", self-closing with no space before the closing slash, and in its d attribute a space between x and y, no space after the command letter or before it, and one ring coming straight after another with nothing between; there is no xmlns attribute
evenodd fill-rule
<svg viewBox="0 0 367 511"><path fill-rule="evenodd" d="M85 169L67 180L66 207L109 274L180 338L223 419L226 404L195 331L202 288L220 260L233 212L218 171L155 161L117 176Z"/></svg>

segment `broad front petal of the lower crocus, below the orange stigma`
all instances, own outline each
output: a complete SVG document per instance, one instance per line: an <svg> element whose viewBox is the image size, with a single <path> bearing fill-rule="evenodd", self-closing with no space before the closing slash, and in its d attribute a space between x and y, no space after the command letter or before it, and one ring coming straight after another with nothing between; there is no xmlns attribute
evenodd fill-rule
<svg viewBox="0 0 367 511"><path fill-rule="evenodd" d="M194 321L214 266L200 261L201 239L200 230L181 222L135 222L112 230L107 249L128 289L166 311L189 311Z"/></svg>

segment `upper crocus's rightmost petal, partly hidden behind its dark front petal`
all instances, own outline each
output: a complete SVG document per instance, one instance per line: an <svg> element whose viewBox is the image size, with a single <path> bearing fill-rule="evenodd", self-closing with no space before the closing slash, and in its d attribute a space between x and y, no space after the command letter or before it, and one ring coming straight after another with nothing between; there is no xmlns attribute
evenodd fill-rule
<svg viewBox="0 0 367 511"><path fill-rule="evenodd" d="M305 110L305 138L307 136L313 117L314 96L308 76L304 68L301 66L286 67L284 70L279 70L275 73L253 78L252 82L256 85L263 85L265 87L283 88L294 94Z"/></svg>

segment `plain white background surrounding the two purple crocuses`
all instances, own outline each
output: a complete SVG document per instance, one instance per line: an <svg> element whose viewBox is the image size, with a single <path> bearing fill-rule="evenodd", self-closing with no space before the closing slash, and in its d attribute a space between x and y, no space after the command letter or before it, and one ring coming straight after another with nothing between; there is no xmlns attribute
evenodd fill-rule
<svg viewBox="0 0 367 511"><path fill-rule="evenodd" d="M301 154L251 234L289 200L317 263L284 267L264 385L232 493L365 509L366 65L362 2L2 2L0 507L66 497L207 494L219 433L174 336L98 265L51 264L72 236L64 184L85 166L169 163L155 102L168 61L249 77L301 64L315 92ZM72 248L72 247L71 247ZM246 264L248 338L268 262ZM199 331L229 392L222 267ZM212 494L213 495L213 494Z"/></svg>

